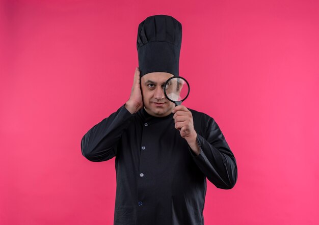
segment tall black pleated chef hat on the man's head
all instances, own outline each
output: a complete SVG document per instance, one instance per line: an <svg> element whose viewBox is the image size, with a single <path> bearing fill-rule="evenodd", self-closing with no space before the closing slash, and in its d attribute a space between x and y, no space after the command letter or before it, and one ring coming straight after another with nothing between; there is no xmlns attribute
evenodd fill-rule
<svg viewBox="0 0 319 225"><path fill-rule="evenodd" d="M149 16L139 24L137 49L140 76L151 72L179 75L181 23L172 16Z"/></svg>

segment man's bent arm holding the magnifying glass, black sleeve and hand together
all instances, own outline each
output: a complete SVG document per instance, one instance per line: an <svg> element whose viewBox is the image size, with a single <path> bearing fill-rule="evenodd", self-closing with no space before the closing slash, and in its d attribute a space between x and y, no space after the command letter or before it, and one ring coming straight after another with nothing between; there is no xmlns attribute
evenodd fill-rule
<svg viewBox="0 0 319 225"><path fill-rule="evenodd" d="M187 140L193 159L207 179L218 188L230 189L237 180L236 160L224 135L214 119L203 115L197 118L195 131L193 116L185 106L173 109L175 128ZM207 124L202 128L200 125Z"/></svg>

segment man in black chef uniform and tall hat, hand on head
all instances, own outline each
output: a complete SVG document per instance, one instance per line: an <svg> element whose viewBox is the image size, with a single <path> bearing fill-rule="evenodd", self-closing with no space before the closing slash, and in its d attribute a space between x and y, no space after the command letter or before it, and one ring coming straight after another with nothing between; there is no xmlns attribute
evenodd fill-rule
<svg viewBox="0 0 319 225"><path fill-rule="evenodd" d="M173 17L141 22L129 100L82 139L87 159L116 157L114 224L203 224L206 178L223 189L236 183L235 158L214 119L165 98L180 46Z"/></svg>

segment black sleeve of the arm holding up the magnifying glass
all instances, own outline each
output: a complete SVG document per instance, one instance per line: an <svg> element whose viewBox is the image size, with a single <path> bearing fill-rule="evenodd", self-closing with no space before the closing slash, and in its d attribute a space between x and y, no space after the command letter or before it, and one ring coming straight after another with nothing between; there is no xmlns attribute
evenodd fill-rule
<svg viewBox="0 0 319 225"><path fill-rule="evenodd" d="M200 153L192 155L206 178L218 188L231 189L237 181L236 159L214 119L209 117L204 137L197 132Z"/></svg>

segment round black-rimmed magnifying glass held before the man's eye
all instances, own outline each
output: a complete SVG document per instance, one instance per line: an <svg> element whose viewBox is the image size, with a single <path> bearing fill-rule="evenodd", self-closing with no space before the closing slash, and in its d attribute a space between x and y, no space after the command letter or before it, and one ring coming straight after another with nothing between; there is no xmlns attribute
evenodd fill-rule
<svg viewBox="0 0 319 225"><path fill-rule="evenodd" d="M187 80L180 76L172 76L166 80L164 84L165 97L174 102L175 105L180 105L190 94L190 85Z"/></svg>

